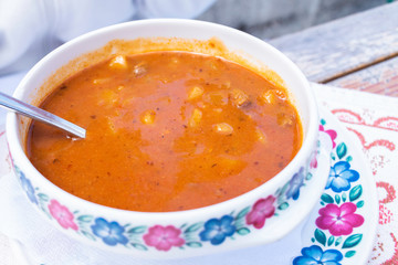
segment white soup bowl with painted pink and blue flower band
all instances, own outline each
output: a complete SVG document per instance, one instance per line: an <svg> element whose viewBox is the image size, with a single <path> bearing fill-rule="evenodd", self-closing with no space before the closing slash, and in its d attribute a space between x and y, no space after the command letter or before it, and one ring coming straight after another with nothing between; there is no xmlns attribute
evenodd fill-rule
<svg viewBox="0 0 398 265"><path fill-rule="evenodd" d="M282 53L251 35L188 20L146 20L105 28L80 36L45 56L27 74L14 96L31 104L40 103L49 92L45 89L51 87L48 83L61 82L87 66L86 61L81 60L83 54L95 57L98 53L93 51L113 40L206 41L214 36L231 53L240 54L259 67L271 68L291 93L302 119L304 140L287 167L261 187L206 208L163 213L112 209L76 198L45 179L25 155L29 120L9 114L7 139L15 176L43 220L67 236L108 251L175 258L266 244L286 235L308 215L321 197L329 169L328 155L317 145L316 103L298 68ZM191 49L196 51L195 45ZM105 49L104 53L111 56L113 52ZM64 67L66 64L69 66ZM54 70L57 70L56 75Z"/></svg>

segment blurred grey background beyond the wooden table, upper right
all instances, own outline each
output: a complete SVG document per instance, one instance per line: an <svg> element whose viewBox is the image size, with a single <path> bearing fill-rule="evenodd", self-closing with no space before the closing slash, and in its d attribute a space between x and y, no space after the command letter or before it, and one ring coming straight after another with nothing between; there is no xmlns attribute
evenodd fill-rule
<svg viewBox="0 0 398 265"><path fill-rule="evenodd" d="M392 2L391 0L218 0L199 20L266 40Z"/></svg>

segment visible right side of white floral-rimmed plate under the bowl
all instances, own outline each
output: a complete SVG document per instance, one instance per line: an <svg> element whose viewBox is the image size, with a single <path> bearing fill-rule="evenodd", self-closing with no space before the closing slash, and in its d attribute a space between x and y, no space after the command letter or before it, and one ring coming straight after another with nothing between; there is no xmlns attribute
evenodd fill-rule
<svg viewBox="0 0 398 265"><path fill-rule="evenodd" d="M324 109L321 109L321 124L322 130L336 136L328 179L333 182L329 187L326 184L320 203L304 225L302 250L292 263L304 265L329 259L327 264L365 264L374 246L378 222L376 184L360 145L346 128ZM333 174L349 176L352 181L342 181ZM342 221L333 221L341 210ZM321 253L324 253L323 261L320 261Z"/></svg>

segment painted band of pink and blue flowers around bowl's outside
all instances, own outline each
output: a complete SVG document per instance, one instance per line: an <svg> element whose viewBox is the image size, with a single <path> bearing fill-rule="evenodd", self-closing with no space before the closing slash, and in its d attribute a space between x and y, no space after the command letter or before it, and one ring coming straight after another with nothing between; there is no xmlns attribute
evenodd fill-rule
<svg viewBox="0 0 398 265"><path fill-rule="evenodd" d="M39 187L34 187L18 166L14 166L14 170L29 200L50 220L56 221L62 229L75 231L93 242L102 241L108 246L123 245L138 251L151 248L168 252L174 247L185 250L185 247L202 247L205 244L220 245L228 240L235 240L235 236L244 236L253 230L263 229L268 220L283 214L283 211L300 199L301 190L305 189L316 170L320 145L318 141L317 150L310 159L307 168L301 167L290 181L276 190L275 194L260 198L252 205L229 214L196 223L185 223L179 227L171 224L151 226L121 224L104 216L69 209L62 202L41 192Z"/></svg>

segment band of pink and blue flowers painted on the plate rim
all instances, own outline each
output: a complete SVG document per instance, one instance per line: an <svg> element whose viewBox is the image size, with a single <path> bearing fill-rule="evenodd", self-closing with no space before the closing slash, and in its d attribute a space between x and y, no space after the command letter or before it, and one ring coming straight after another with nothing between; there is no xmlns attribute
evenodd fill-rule
<svg viewBox="0 0 398 265"><path fill-rule="evenodd" d="M326 120L321 119L320 130L333 141L331 171L320 200L311 245L301 250L293 265L342 265L344 259L356 255L364 236L358 231L365 222L360 174L352 168L354 158L347 144L338 141L337 131L325 128Z"/></svg>

